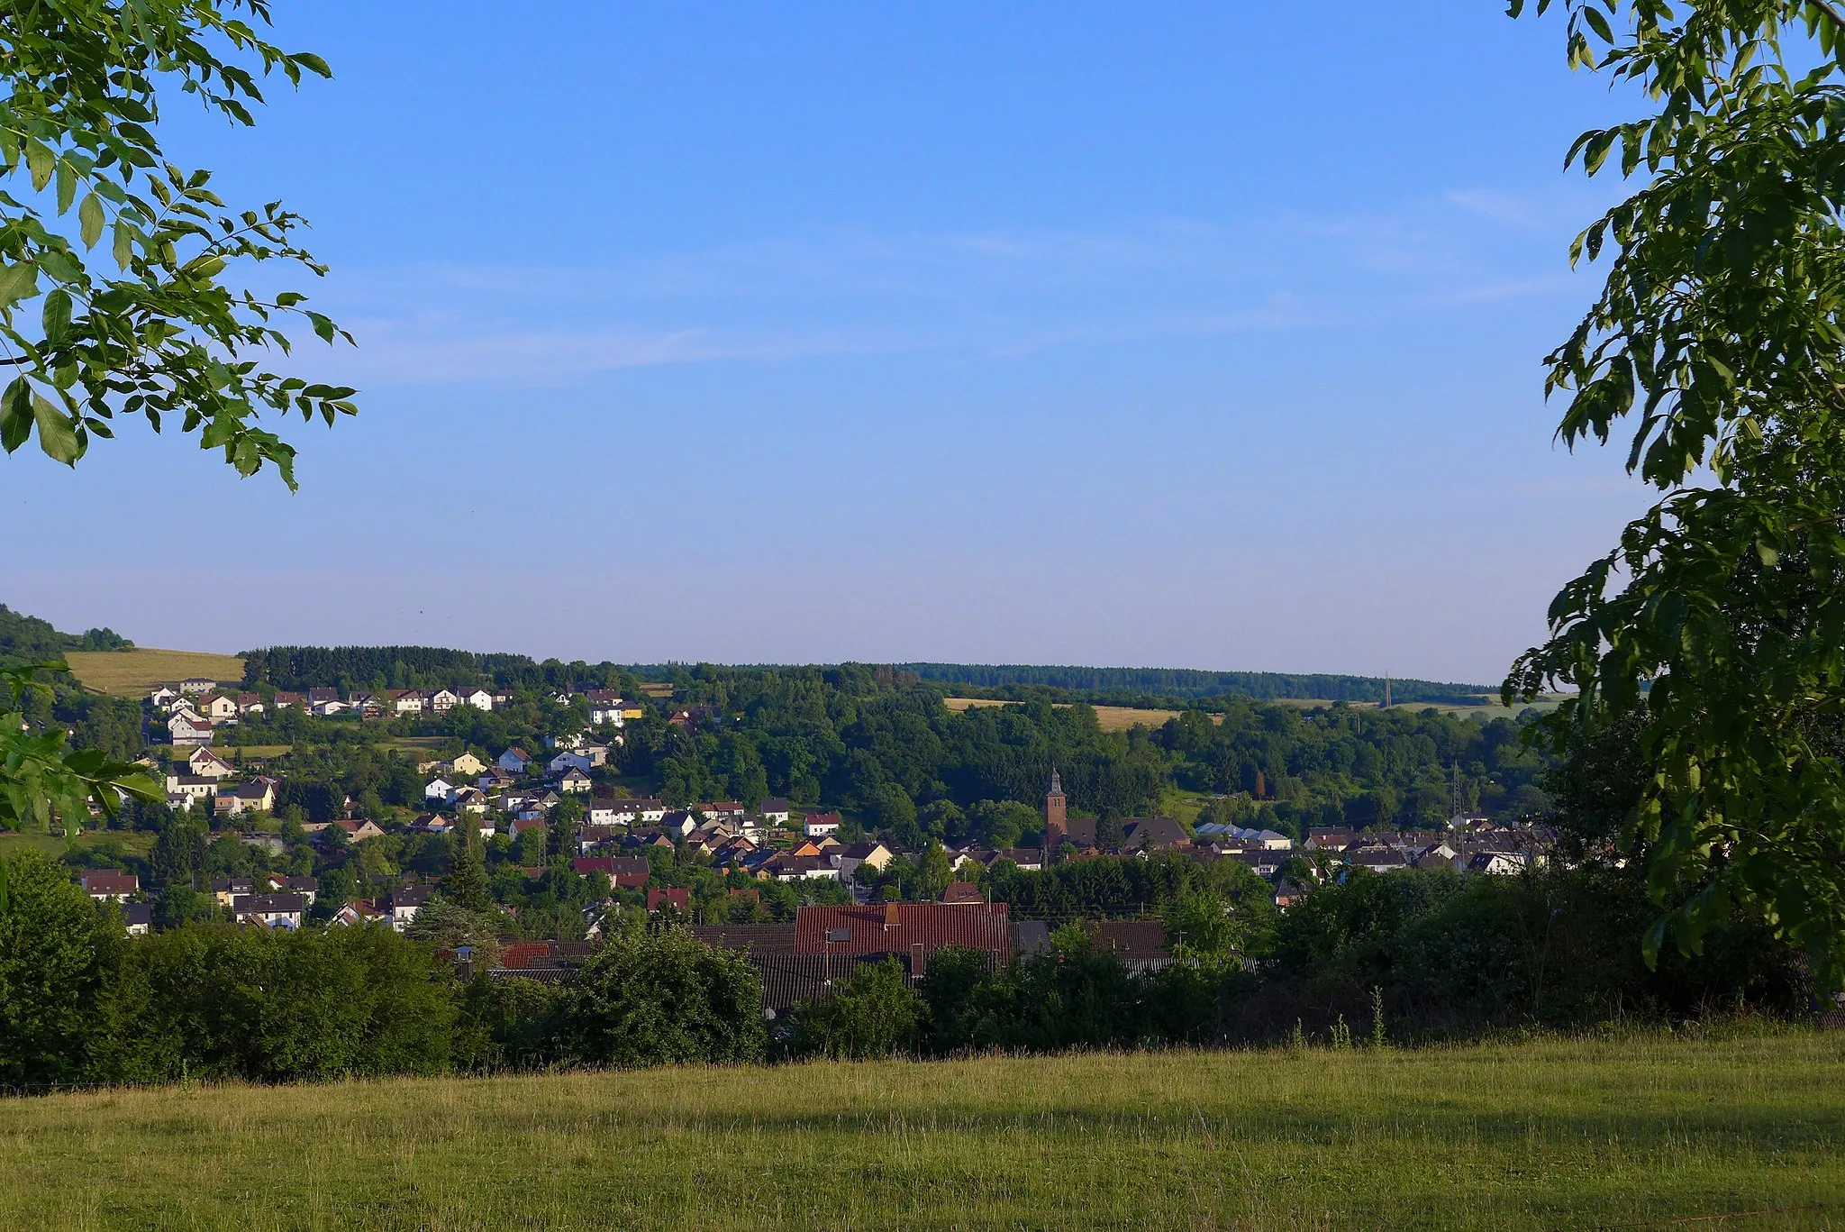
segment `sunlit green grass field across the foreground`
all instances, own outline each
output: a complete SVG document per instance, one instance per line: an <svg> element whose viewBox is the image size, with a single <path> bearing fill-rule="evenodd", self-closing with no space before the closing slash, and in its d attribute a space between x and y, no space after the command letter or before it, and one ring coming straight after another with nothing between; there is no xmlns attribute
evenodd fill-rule
<svg viewBox="0 0 1845 1232"><path fill-rule="evenodd" d="M1841 1223L1817 1033L0 1103L4 1228Z"/></svg>

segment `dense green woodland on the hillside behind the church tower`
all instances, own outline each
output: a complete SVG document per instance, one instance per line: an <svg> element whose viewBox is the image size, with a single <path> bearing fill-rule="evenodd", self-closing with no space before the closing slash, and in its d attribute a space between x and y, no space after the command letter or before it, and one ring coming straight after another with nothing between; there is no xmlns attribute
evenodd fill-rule
<svg viewBox="0 0 1845 1232"><path fill-rule="evenodd" d="M1548 802L1537 783L1548 761L1509 719L1232 702L1155 730L1103 731L1083 704L954 713L939 687L863 665L707 665L677 670L673 683L727 720L692 731L631 724L624 774L655 778L673 803L777 794L847 807L867 831L911 848L930 837L1011 846L1035 827L1052 768L1079 815L1153 815L1177 785L1225 796L1212 820L1295 837L1323 824L1443 824L1456 767L1463 807L1517 820ZM483 720L456 715L448 720ZM993 807L1004 802L1028 813Z"/></svg>

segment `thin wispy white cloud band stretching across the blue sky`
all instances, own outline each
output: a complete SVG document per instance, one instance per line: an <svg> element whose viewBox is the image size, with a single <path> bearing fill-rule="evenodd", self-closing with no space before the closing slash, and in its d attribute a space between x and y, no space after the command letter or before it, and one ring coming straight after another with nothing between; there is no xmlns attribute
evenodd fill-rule
<svg viewBox="0 0 1845 1232"><path fill-rule="evenodd" d="M577 380L716 360L1314 329L1570 284L1563 207L1452 192L1395 212L1114 231L834 229L603 268L338 273L352 380ZM1572 223L1583 211L1572 211Z"/></svg>

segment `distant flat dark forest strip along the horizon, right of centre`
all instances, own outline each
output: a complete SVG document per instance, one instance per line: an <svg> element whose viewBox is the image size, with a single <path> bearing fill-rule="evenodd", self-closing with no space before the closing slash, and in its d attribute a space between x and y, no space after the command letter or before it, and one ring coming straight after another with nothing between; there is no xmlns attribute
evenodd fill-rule
<svg viewBox="0 0 1845 1232"><path fill-rule="evenodd" d="M1140 698L1319 698L1327 702L1382 702L1380 676L1330 676L1286 672L1207 672L1183 667L1031 667L1017 663L900 663L900 670L946 685L982 689L1063 689L1077 695ZM1391 680L1393 702L1472 706L1487 685Z"/></svg>

